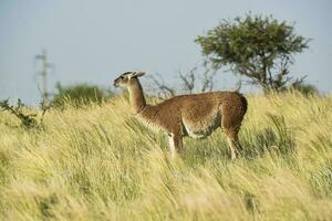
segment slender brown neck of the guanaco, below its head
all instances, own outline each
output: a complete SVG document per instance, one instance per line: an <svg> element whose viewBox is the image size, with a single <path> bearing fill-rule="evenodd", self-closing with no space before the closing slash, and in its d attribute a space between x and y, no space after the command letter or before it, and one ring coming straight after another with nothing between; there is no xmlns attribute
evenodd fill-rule
<svg viewBox="0 0 332 221"><path fill-rule="evenodd" d="M128 83L129 101L135 114L139 114L146 106L143 90L139 81L134 77Z"/></svg>

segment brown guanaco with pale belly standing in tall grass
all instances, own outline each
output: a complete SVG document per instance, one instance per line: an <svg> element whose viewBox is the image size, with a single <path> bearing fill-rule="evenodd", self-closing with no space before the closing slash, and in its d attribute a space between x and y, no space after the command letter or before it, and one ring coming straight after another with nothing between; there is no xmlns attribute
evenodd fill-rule
<svg viewBox="0 0 332 221"><path fill-rule="evenodd" d="M115 86L126 86L133 110L146 124L168 133L172 154L180 151L183 137L205 138L221 127L228 138L231 158L242 147L238 140L241 122L247 112L247 99L237 92L212 92L172 97L157 105L147 105L137 76L127 72L114 81Z"/></svg>

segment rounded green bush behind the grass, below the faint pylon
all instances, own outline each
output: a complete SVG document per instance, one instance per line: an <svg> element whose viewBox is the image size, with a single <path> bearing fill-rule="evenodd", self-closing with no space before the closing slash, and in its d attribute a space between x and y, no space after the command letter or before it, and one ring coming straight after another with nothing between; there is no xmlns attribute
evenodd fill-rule
<svg viewBox="0 0 332 221"><path fill-rule="evenodd" d="M110 90L100 88L96 85L75 84L62 86L56 84L58 94L52 99L52 106L64 108L70 104L75 107L85 106L91 103L100 104L113 95Z"/></svg>

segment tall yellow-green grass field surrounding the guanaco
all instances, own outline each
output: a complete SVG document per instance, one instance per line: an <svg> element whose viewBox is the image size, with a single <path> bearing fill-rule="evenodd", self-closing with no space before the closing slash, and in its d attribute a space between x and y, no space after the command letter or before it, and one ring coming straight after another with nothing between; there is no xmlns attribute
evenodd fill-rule
<svg viewBox="0 0 332 221"><path fill-rule="evenodd" d="M43 130L2 112L0 220L332 220L332 96L248 103L235 161L221 130L170 160L124 96L50 109Z"/></svg>

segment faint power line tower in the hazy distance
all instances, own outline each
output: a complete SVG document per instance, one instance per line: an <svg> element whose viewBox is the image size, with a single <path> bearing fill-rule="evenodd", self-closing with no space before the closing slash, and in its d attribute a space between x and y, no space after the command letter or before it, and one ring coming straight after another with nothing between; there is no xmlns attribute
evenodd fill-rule
<svg viewBox="0 0 332 221"><path fill-rule="evenodd" d="M43 50L41 54L37 54L34 56L35 60L40 60L42 62L42 71L38 74L42 77L42 106L46 106L49 104L49 92L48 92L48 70L53 67L53 64L48 62L46 51Z"/></svg>

